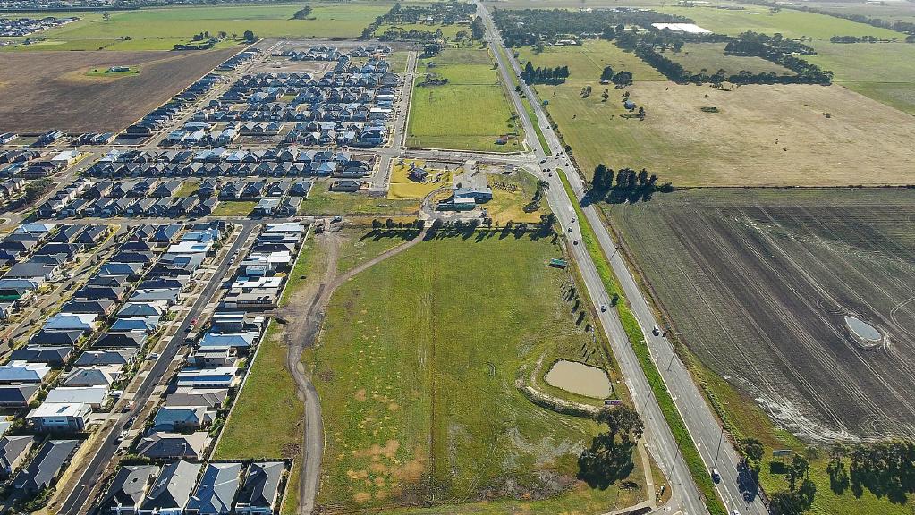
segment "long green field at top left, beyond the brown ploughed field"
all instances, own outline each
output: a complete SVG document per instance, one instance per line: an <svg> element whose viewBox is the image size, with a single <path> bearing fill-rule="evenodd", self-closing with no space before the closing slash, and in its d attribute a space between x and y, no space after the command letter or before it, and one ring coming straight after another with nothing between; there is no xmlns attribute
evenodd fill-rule
<svg viewBox="0 0 915 515"><path fill-rule="evenodd" d="M108 49L170 49L176 42L187 41L199 32L225 32L241 36L252 30L262 37L329 38L357 37L377 16L387 12L389 4L328 4L312 5L307 20L292 19L301 5L213 5L181 6L132 11L113 11L110 19L88 13L79 22L41 33L66 44L81 40L119 41L134 38L134 46L121 48L115 44ZM313 19L312 19L313 18ZM94 44L94 43L93 43ZM97 47L96 47L97 48Z"/></svg>

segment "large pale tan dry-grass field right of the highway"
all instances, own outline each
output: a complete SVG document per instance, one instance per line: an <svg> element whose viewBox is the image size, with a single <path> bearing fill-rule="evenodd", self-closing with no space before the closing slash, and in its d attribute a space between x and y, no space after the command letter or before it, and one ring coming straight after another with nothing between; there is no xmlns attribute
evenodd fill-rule
<svg viewBox="0 0 915 515"><path fill-rule="evenodd" d="M674 186L910 184L915 119L839 86L751 85L734 91L636 82L647 113L623 119L619 91L601 102L581 84L540 86L581 168L648 168ZM708 98L705 98L705 97ZM702 107L716 107L705 113ZM827 117L825 113L829 113ZM867 171L858 165L867 163Z"/></svg>

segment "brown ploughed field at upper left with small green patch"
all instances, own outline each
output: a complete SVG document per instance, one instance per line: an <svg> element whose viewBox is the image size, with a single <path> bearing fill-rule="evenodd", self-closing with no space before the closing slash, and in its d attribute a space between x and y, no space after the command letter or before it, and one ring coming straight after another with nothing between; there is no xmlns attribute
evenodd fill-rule
<svg viewBox="0 0 915 515"><path fill-rule="evenodd" d="M0 53L0 132L120 131L237 51ZM111 66L140 73L86 75Z"/></svg>

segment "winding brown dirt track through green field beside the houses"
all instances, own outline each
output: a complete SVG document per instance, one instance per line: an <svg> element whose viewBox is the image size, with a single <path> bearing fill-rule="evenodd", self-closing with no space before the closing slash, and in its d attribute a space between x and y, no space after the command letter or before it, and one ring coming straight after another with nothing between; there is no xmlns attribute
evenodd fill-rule
<svg viewBox="0 0 915 515"><path fill-rule="evenodd" d="M318 481L321 472L321 455L324 452L324 424L321 419L321 405L318 392L305 374L302 365L302 352L314 345L330 296L352 277L371 268L375 264L413 247L425 239L425 229L413 240L393 247L393 249L361 263L342 275L337 275L337 262L342 238L338 234L324 233L316 236L318 243L327 251L327 263L320 284L310 285L305 291L296 295L288 306L276 313L284 317L286 326L286 368L296 380L298 396L305 402L305 431L302 441L302 472L299 476L299 513L310 515L315 510L315 499L318 496ZM307 309L305 309L307 306ZM304 313L303 313L304 311Z"/></svg>

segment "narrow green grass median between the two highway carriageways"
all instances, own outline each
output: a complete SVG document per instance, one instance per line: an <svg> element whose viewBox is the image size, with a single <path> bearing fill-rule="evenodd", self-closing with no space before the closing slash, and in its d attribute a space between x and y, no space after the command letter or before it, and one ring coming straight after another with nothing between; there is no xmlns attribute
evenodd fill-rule
<svg viewBox="0 0 915 515"><path fill-rule="evenodd" d="M639 322L632 315L629 306L626 305L622 291L619 290L613 280L613 271L610 269L607 257L600 248L600 243L597 241L594 230L591 229L591 224L587 221L584 211L578 205L575 191L572 189L572 185L569 184L568 179L565 178L565 172L561 169L556 169L556 172L559 173L559 177L563 181L565 192L569 198L573 199L572 205L576 210L576 217L581 229L581 240L585 244L591 260L594 261L600 280L604 283L609 295L619 295L619 298L623 300L616 306L619 321L626 331L626 336L630 340L630 345L635 351L636 357L639 358L641 370L651 385L651 392L654 393L655 400L658 402L658 406L661 407L664 420L670 426L673 437L680 445L680 451L683 453L686 466L689 467L690 475L693 476L696 486L699 487L699 491L702 492L705 498L705 507L712 515L727 515L727 509L721 499L718 499L715 484L705 469L705 463L702 461L702 456L699 456L699 450L695 446L693 437L689 434L683 418L677 411L676 404L673 403L671 392L667 390L667 385L664 384L661 372L658 371L654 361L651 360L651 353L645 343L645 335L641 332Z"/></svg>

